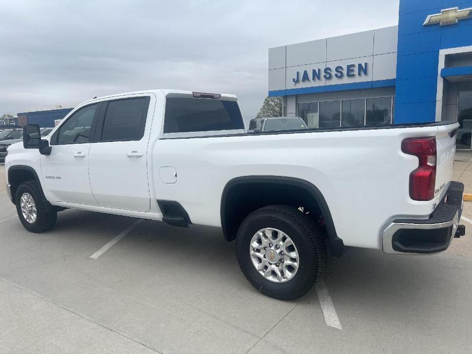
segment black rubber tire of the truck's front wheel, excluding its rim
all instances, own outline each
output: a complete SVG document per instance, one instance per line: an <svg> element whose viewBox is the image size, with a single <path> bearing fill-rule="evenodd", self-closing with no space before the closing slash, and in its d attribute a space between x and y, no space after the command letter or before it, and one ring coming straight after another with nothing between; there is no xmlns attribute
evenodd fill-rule
<svg viewBox="0 0 472 354"><path fill-rule="evenodd" d="M20 199L23 193L29 193L33 197L36 205L36 220L34 222L28 222L21 212ZM34 233L41 233L54 227L57 211L52 206L46 205L46 203L47 201L35 181L24 182L18 186L15 195L16 212L25 229Z"/></svg>

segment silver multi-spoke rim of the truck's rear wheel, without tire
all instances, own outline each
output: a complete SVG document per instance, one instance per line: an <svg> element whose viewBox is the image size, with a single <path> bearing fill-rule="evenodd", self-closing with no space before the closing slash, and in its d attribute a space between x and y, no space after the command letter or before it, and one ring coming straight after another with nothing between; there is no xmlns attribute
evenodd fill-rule
<svg viewBox="0 0 472 354"><path fill-rule="evenodd" d="M254 234L249 248L254 267L271 282L288 282L299 269L299 252L283 231L272 227L261 229Z"/></svg>

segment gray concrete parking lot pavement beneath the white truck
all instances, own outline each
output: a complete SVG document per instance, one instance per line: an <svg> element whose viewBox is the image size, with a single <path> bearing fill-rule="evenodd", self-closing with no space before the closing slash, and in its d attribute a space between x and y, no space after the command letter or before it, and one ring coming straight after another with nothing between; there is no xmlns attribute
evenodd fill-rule
<svg viewBox="0 0 472 354"><path fill-rule="evenodd" d="M457 179L469 165L457 164ZM468 223L440 255L349 249L330 260L324 291L284 302L253 289L219 230L66 210L55 230L29 233L4 171L0 164L2 353L472 351ZM463 215L472 219L472 202ZM327 325L317 294L329 297L342 329Z"/></svg>

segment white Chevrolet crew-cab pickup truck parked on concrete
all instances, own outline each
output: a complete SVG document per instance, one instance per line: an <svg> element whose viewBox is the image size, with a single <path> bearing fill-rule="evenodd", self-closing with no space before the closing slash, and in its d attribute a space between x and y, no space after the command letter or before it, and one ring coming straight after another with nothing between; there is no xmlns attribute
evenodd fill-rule
<svg viewBox="0 0 472 354"><path fill-rule="evenodd" d="M458 125L251 133L234 95L119 94L81 104L46 139L26 125L7 190L31 232L65 208L220 227L258 291L293 299L321 279L327 248L434 254L464 234Z"/></svg>

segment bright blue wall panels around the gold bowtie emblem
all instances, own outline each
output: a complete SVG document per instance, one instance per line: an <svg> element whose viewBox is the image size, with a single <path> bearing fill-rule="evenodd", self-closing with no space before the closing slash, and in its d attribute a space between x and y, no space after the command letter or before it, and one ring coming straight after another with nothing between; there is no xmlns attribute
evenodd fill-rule
<svg viewBox="0 0 472 354"><path fill-rule="evenodd" d="M472 19L423 26L441 9L472 7L461 0L400 0L395 123L436 119L439 50L472 45Z"/></svg>

